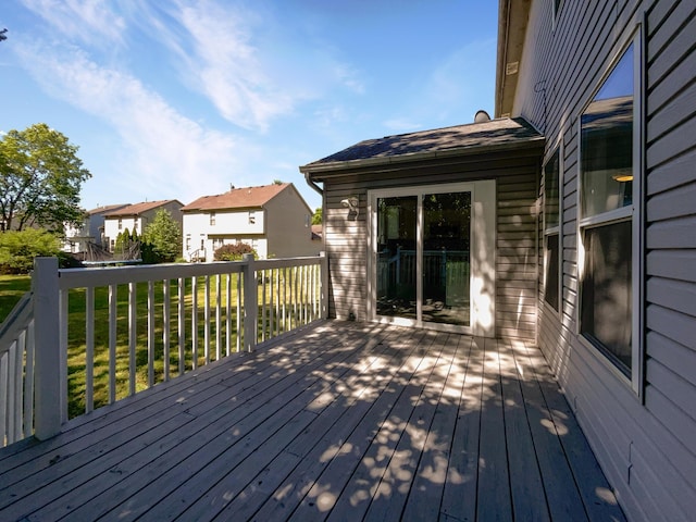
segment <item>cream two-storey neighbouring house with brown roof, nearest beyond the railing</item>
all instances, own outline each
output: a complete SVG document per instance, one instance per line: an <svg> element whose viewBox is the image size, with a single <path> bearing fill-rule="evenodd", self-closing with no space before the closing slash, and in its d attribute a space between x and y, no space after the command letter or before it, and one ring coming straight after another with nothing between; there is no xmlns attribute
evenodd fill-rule
<svg viewBox="0 0 696 522"><path fill-rule="evenodd" d="M217 248L246 243L259 258L315 256L312 211L291 183L233 188L182 209L184 257L213 261Z"/></svg>

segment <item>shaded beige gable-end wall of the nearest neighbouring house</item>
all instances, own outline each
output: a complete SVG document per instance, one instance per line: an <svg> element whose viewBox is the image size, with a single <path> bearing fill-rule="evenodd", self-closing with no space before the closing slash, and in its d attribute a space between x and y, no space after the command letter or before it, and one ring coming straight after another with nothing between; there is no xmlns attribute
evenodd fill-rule
<svg viewBox="0 0 696 522"><path fill-rule="evenodd" d="M321 241L312 241L312 211L293 185L269 201L265 208L270 257L319 254Z"/></svg>

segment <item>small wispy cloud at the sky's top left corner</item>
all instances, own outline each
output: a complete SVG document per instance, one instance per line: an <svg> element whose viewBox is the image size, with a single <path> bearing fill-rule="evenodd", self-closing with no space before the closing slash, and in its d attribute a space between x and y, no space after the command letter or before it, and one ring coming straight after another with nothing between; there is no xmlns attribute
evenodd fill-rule
<svg viewBox="0 0 696 522"><path fill-rule="evenodd" d="M125 21L104 0L23 0L24 5L71 39L121 42Z"/></svg>

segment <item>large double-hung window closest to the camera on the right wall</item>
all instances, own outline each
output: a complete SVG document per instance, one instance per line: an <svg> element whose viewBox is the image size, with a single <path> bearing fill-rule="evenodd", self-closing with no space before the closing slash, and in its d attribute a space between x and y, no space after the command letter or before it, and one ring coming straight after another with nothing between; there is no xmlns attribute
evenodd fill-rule
<svg viewBox="0 0 696 522"><path fill-rule="evenodd" d="M635 386L642 259L637 54L634 42L581 116L579 252L580 334Z"/></svg>

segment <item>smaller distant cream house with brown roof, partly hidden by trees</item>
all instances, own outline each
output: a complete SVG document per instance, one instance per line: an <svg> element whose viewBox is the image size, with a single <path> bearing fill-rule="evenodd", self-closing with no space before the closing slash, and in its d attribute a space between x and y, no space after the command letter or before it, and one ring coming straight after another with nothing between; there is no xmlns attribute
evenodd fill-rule
<svg viewBox="0 0 696 522"><path fill-rule="evenodd" d="M164 199L128 204L107 212L104 214L104 248L113 251L119 234L126 229L130 234L137 232L138 235L142 235L142 232L160 209L169 211L174 221L181 225L182 207L184 207L184 203L177 199Z"/></svg>

